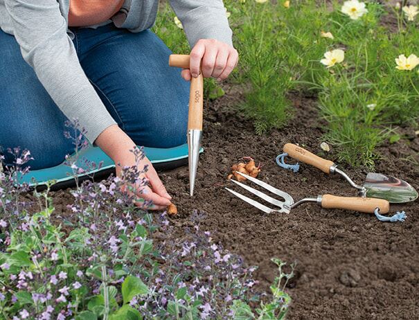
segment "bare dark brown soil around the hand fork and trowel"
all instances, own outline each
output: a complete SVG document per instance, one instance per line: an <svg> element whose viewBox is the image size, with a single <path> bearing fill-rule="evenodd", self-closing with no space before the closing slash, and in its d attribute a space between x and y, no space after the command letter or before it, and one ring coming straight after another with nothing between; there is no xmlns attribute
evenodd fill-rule
<svg viewBox="0 0 419 320"><path fill-rule="evenodd" d="M291 213L267 215L235 199L224 190L231 165L250 156L262 162L260 179L285 190L294 199L325 193L354 196L356 191L339 176L328 176L301 165L298 173L279 168L276 155L287 142L335 161L334 150L319 147L324 133L316 100L292 96L294 120L282 130L257 136L251 121L238 112L242 93L235 89L204 109L205 148L199 162L195 196L189 196L188 168L161 172L179 214L170 220L177 237L184 236L190 216L206 213L202 229L226 249L240 254L248 265L258 265L259 290L269 290L276 276L270 258L296 262L295 276L287 286L292 296L288 319L418 319L419 314L419 205L392 205L404 210L404 223L380 222L369 213L327 210L303 204ZM406 137L384 143L375 170L409 181L419 189L419 137L401 128ZM290 160L292 161L292 160ZM358 183L367 171L341 166ZM54 195L56 214L65 215L71 202L68 190Z"/></svg>

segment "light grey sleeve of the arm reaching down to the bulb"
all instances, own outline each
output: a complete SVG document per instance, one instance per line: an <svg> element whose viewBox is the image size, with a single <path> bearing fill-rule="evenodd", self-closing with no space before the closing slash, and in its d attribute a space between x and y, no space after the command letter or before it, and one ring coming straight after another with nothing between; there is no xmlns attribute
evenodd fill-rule
<svg viewBox="0 0 419 320"><path fill-rule="evenodd" d="M93 144L116 122L80 66L57 0L6 0L5 5L24 60L65 116L79 119Z"/></svg>

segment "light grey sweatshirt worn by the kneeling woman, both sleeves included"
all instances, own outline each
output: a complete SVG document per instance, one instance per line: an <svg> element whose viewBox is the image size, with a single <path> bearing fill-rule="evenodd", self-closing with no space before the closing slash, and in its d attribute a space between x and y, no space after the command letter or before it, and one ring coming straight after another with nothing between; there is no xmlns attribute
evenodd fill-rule
<svg viewBox="0 0 419 320"><path fill-rule="evenodd" d="M0 0L0 28L14 35L24 60L67 118L78 118L93 144L116 122L87 79L68 28L70 0ZM158 0L125 0L121 10L98 28L114 23L133 33L154 25ZM231 29L222 0L170 0L190 46L199 39L231 45ZM0 75L1 76L1 75Z"/></svg>

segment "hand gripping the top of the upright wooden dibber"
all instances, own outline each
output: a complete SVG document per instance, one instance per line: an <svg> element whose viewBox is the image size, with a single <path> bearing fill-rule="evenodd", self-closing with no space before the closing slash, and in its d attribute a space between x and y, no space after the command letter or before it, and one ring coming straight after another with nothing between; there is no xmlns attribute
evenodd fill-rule
<svg viewBox="0 0 419 320"><path fill-rule="evenodd" d="M226 79L237 66L238 52L229 44L215 39L200 39L190 51L190 69L182 71L182 77L189 81L191 75L199 75L199 64L202 60L202 74L205 78Z"/></svg>

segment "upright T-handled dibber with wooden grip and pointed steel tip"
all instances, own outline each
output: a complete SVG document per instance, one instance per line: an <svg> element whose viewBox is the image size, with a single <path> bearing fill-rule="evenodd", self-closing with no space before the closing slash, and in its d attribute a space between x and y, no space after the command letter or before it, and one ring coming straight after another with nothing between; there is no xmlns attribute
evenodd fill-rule
<svg viewBox="0 0 419 320"><path fill-rule="evenodd" d="M189 69L189 55L170 55L169 65ZM204 105L204 78L199 73L190 79L189 114L188 114L188 162L190 196L193 196L197 175L199 148L202 139L202 112Z"/></svg>

